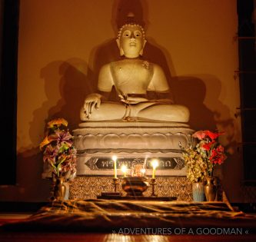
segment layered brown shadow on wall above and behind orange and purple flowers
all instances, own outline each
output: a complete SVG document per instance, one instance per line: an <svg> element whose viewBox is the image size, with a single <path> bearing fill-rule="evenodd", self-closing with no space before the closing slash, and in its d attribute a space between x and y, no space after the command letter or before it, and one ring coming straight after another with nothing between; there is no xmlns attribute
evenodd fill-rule
<svg viewBox="0 0 256 242"><path fill-rule="evenodd" d="M5 194L4 189L5 198L12 196L8 198L10 201L48 200L51 181L42 179L43 160L42 152L38 148L38 136L42 141L46 124L53 118L65 118L70 130L78 127L79 110L85 95L93 90L93 85L89 81L91 77L88 78L90 75L91 71L85 61L78 58L53 61L42 68L41 78L45 81L45 94L48 99L33 112L29 129L30 138L36 147L18 151L18 184L11 188L11 193L6 190ZM56 98L59 95L60 98Z"/></svg>

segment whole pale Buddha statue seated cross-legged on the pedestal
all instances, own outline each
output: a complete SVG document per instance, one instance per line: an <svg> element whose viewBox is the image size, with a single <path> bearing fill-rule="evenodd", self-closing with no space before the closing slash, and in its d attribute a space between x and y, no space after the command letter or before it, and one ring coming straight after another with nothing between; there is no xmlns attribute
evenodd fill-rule
<svg viewBox="0 0 256 242"><path fill-rule="evenodd" d="M146 44L141 25L123 25L116 41L122 59L101 67L98 93L85 98L81 121L188 122L188 108L168 98L169 86L162 68L141 58ZM108 101L113 86L120 101ZM148 93L154 93L154 98L147 98Z"/></svg>

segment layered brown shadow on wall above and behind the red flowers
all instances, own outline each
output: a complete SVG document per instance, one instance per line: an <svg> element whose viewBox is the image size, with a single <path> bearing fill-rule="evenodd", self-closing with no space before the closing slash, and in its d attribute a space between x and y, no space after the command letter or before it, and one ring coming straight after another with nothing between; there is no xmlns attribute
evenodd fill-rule
<svg viewBox="0 0 256 242"><path fill-rule="evenodd" d="M172 78L171 86L175 94L175 101L187 106L191 112L189 121L191 128L224 131L220 141L228 153L228 159L221 167L218 165L215 167L214 174L221 178L228 197L241 201L239 194L241 194L240 183L243 178L241 172L243 167L241 151L238 149L238 140L241 137L241 134L238 133L240 127L228 106L218 99L221 94L221 81L213 75L175 77ZM211 110L204 105L206 98Z"/></svg>

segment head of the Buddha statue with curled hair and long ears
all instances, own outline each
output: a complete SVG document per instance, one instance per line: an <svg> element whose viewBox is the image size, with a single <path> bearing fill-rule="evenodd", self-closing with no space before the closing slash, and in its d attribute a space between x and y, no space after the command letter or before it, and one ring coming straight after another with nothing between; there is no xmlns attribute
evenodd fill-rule
<svg viewBox="0 0 256 242"><path fill-rule="evenodd" d="M125 25L121 29L120 38L117 39L120 55L126 58L138 58L142 55L146 40L138 25Z"/></svg>

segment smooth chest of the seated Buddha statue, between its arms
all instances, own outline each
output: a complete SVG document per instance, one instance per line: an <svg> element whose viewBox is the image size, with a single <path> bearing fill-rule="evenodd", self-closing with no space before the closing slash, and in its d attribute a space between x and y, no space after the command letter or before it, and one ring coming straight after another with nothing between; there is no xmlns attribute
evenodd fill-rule
<svg viewBox="0 0 256 242"><path fill-rule="evenodd" d="M148 88L153 70L148 61L125 60L113 62L111 72L118 88L134 93Z"/></svg>

